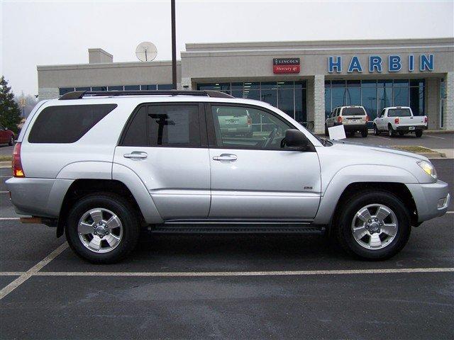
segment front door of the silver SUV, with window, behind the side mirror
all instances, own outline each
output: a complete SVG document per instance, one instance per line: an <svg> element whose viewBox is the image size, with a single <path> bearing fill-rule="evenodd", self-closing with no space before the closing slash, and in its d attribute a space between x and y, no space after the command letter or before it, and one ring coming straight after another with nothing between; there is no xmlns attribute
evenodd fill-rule
<svg viewBox="0 0 454 340"><path fill-rule="evenodd" d="M231 113L229 113L231 111ZM281 146L294 128L256 106L211 104L206 108L213 219L311 220L320 201L319 158L313 151ZM225 115L249 115L251 134L223 127ZM238 133L236 133L238 132Z"/></svg>

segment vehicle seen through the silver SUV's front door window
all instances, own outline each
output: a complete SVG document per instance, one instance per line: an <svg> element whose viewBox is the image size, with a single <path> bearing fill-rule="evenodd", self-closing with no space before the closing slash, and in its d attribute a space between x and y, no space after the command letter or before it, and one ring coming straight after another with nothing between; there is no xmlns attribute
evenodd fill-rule
<svg viewBox="0 0 454 340"><path fill-rule="evenodd" d="M253 137L253 121L247 108L217 108L217 111L221 133Z"/></svg>

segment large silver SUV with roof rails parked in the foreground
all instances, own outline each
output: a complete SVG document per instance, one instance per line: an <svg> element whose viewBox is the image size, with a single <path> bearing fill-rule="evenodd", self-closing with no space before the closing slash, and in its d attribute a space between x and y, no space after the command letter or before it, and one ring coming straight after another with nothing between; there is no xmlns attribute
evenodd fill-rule
<svg viewBox="0 0 454 340"><path fill-rule="evenodd" d="M248 137L223 129L247 111ZM23 126L6 181L22 222L56 227L95 263L140 229L173 234L329 234L387 259L411 226L443 215L448 185L426 157L331 142L279 109L214 91L72 92Z"/></svg>

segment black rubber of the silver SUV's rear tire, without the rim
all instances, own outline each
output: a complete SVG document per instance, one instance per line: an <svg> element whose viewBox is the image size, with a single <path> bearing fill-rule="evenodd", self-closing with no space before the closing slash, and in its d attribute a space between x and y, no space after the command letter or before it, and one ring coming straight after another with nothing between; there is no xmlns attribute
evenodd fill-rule
<svg viewBox="0 0 454 340"><path fill-rule="evenodd" d="M107 253L96 253L87 249L79 239L77 225L85 212L104 208L114 212L123 225L123 237L118 245ZM115 263L128 255L138 242L140 233L139 213L131 203L114 193L95 193L84 196L74 204L67 217L65 234L71 249L84 260L92 263Z"/></svg>

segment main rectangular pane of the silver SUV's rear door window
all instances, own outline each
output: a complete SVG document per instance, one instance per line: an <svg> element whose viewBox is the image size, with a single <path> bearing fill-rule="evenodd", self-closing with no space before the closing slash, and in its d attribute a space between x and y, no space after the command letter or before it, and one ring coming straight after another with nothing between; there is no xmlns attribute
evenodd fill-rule
<svg viewBox="0 0 454 340"><path fill-rule="evenodd" d="M199 147L199 105L148 106L150 146Z"/></svg>

